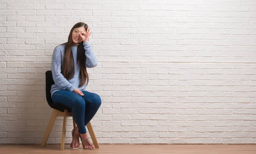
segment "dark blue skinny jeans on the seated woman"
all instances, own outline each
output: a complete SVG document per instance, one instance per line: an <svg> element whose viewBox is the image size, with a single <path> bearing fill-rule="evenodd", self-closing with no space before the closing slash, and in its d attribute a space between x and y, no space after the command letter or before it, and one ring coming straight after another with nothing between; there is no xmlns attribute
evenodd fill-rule
<svg viewBox="0 0 256 154"><path fill-rule="evenodd" d="M80 134L86 133L85 126L98 111L102 100L98 94L82 91L84 96L72 91L59 90L52 94L53 103L61 103L72 108L72 115Z"/></svg>

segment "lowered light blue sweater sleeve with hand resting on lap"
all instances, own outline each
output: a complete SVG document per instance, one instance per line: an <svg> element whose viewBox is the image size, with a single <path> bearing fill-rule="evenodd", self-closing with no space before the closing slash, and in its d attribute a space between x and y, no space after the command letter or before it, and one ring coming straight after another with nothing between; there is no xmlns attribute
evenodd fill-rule
<svg viewBox="0 0 256 154"><path fill-rule="evenodd" d="M61 47L56 47L52 55L52 78L55 84L62 90L73 91L73 86L61 73Z"/></svg>

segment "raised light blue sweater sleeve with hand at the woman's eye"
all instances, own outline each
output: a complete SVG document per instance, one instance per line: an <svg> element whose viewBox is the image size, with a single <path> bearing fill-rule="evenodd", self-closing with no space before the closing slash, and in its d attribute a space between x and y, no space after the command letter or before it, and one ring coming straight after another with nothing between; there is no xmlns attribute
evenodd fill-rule
<svg viewBox="0 0 256 154"><path fill-rule="evenodd" d="M86 68L93 68L98 65L98 60L96 59L95 54L93 53L92 46L90 46L89 41L83 43L85 56L86 56Z"/></svg>

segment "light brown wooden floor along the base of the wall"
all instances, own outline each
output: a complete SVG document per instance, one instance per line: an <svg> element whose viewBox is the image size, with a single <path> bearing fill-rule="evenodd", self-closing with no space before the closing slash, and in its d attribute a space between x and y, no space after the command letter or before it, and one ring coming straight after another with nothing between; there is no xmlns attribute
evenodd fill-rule
<svg viewBox="0 0 256 154"><path fill-rule="evenodd" d="M0 145L0 154L256 154L256 145L99 145L95 150L71 150L65 145Z"/></svg>

